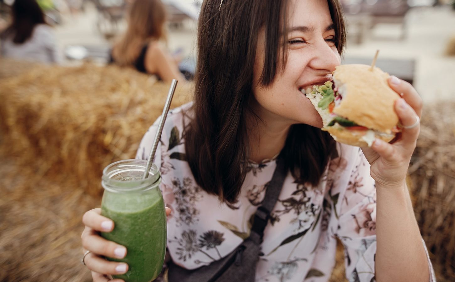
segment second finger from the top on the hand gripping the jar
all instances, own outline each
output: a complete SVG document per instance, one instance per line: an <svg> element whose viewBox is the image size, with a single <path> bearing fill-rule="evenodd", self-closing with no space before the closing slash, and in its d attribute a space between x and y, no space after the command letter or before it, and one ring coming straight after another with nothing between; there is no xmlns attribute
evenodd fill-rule
<svg viewBox="0 0 455 282"><path fill-rule="evenodd" d="M97 233L86 233L82 238L82 246L91 252L106 257L123 258L126 256L126 247L108 241Z"/></svg>

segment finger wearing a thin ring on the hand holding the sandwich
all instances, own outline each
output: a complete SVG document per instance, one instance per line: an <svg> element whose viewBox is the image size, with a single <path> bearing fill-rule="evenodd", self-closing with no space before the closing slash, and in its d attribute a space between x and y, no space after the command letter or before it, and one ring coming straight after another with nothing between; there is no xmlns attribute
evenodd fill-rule
<svg viewBox="0 0 455 282"><path fill-rule="evenodd" d="M420 119L417 117L414 109L404 101L404 99L398 99L395 103L395 111L398 114L400 123L403 125L403 132L401 134L401 143L414 143L419 137L420 124L417 124ZM414 126L414 127L413 127ZM413 128L406 128L413 127ZM398 142L397 142L398 143ZM414 149L414 148L413 148Z"/></svg>

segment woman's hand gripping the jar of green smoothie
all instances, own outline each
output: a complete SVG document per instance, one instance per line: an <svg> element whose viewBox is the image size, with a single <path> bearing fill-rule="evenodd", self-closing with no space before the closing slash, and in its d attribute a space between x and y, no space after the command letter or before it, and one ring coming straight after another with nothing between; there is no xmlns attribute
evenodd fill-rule
<svg viewBox="0 0 455 282"><path fill-rule="evenodd" d="M171 209L166 208L166 215L169 213L171 213ZM126 247L100 236L101 231L111 232L114 229L114 222L101 215L101 208L95 208L84 214L82 223L86 226L81 235L84 253L91 251L86 255L84 262L91 270L93 281L123 281L121 279L111 280L111 275L126 273L128 265L125 262L110 262L102 257L124 258L126 256Z"/></svg>

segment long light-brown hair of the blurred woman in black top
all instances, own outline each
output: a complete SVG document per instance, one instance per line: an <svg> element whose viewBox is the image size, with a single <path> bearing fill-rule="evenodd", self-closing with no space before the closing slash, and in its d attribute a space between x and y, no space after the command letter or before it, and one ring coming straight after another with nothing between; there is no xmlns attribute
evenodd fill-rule
<svg viewBox="0 0 455 282"><path fill-rule="evenodd" d="M147 41L166 39L166 10L160 0L135 0L128 12L128 28L112 49L119 65L132 64Z"/></svg>

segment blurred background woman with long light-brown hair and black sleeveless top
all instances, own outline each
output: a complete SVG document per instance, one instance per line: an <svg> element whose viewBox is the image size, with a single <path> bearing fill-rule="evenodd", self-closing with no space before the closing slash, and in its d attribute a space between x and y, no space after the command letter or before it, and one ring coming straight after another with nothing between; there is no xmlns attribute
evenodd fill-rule
<svg viewBox="0 0 455 282"><path fill-rule="evenodd" d="M135 0L128 13L125 35L112 49L111 61L121 66L134 66L138 71L156 74L170 82L184 81L177 62L159 40L166 39L166 11L160 0Z"/></svg>

